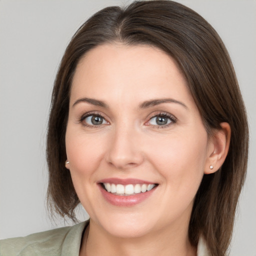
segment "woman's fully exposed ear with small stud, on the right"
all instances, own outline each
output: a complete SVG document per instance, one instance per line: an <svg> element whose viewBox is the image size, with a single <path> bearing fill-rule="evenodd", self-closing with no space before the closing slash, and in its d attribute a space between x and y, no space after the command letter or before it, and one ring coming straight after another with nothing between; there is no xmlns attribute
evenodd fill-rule
<svg viewBox="0 0 256 256"><path fill-rule="evenodd" d="M221 122L219 129L216 129L209 140L208 157L204 166L204 174L217 171L223 164L229 144L231 129L227 122Z"/></svg>

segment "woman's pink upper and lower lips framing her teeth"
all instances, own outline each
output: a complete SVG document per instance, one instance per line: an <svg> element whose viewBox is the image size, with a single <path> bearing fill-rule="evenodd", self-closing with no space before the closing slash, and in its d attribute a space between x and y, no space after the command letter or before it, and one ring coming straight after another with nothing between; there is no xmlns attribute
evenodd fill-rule
<svg viewBox="0 0 256 256"><path fill-rule="evenodd" d="M119 178L106 178L100 180L97 184L99 187L99 190L104 197L104 199L115 206L133 206L136 205L144 200L146 200L150 195L152 195L156 189L157 186L153 187L151 190L143 192L143 193L137 193L132 195L116 195L110 192L107 192L103 187L102 183L114 183L114 184L153 184L152 182L141 180L141 179L119 179Z"/></svg>

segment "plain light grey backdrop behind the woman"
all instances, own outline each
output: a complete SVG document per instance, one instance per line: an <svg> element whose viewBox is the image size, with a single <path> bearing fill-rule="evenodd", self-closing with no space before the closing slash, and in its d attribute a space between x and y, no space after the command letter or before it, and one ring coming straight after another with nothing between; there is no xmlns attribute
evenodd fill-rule
<svg viewBox="0 0 256 256"><path fill-rule="evenodd" d="M83 21L125 0L0 0L0 238L64 224L45 209L45 134L51 88ZM256 255L256 1L179 0L218 31L233 60L250 124L248 175L230 255ZM82 209L80 219L86 218Z"/></svg>

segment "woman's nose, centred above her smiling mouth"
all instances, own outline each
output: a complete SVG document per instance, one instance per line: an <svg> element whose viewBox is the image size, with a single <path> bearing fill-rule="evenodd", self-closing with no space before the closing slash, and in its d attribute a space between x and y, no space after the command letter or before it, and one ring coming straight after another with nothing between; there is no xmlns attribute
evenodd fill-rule
<svg viewBox="0 0 256 256"><path fill-rule="evenodd" d="M115 129L109 142L106 161L118 169L140 165L143 161L143 153L139 137L134 128L122 126Z"/></svg>

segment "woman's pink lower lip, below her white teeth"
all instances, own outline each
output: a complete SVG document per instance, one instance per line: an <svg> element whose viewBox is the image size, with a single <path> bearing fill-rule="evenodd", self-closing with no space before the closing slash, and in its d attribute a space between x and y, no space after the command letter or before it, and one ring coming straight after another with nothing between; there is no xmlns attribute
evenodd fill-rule
<svg viewBox="0 0 256 256"><path fill-rule="evenodd" d="M116 195L107 192L100 184L98 186L105 200L116 206L133 206L138 204L148 198L156 188L155 186L149 191L132 195Z"/></svg>

